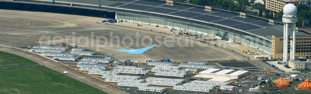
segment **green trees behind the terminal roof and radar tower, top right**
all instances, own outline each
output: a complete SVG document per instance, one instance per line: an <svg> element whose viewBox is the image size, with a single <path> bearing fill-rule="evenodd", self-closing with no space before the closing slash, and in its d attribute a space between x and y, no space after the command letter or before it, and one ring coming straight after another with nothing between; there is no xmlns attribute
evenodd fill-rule
<svg viewBox="0 0 311 94"><path fill-rule="evenodd" d="M222 6L222 9L235 11L235 12L243 12L246 9L246 6L251 6L248 3L248 0L239 0L234 2L232 0L189 0L189 3L194 5L219 5ZM252 8L259 10L258 16L267 18L267 19L282 19L283 11L276 12L266 9L265 7L259 6L257 4L253 5ZM297 7L297 15L298 15L298 22L296 26L302 26L301 22L304 19L309 19L309 23L305 24L304 26L311 27L311 8L306 5L300 5Z"/></svg>

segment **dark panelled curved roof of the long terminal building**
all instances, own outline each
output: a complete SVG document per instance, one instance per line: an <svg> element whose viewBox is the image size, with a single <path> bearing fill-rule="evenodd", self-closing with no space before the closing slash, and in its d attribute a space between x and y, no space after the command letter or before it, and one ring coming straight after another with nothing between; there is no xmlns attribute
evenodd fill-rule
<svg viewBox="0 0 311 94"><path fill-rule="evenodd" d="M19 0L15 0L19 1ZM35 1L48 1L52 0L35 0ZM119 2L117 2L119 1ZM165 1L148 1L148 0L54 0L55 3L72 3L88 6L110 7L118 9L131 9L133 11L145 11L152 13L159 13L161 15L174 15L184 17L183 19L195 19L205 21L211 24L220 24L228 26L241 31L246 31L260 37L264 37L271 41L272 35L283 35L283 25L268 24L268 19L264 18L241 18L238 12L232 11L204 11L203 6L195 7L195 5L166 5ZM69 5L70 6L70 5ZM77 7L77 6L76 6ZM190 22L190 20L189 20ZM200 22L202 23L202 22ZM204 22L203 22L204 23ZM230 31L230 30L229 30ZM251 35L252 35L251 34ZM307 33L298 32L296 35L304 35Z"/></svg>

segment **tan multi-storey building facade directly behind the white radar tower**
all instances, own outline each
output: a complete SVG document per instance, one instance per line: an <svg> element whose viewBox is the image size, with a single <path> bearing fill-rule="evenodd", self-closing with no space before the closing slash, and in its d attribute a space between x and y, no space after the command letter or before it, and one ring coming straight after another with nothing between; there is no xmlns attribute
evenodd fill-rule
<svg viewBox="0 0 311 94"><path fill-rule="evenodd" d="M290 48L288 48L288 53L290 53ZM288 54L288 56L290 56L290 54ZM311 35L296 35L295 58L298 59L299 57L305 59L311 58ZM283 58L283 35L272 36L272 58Z"/></svg>

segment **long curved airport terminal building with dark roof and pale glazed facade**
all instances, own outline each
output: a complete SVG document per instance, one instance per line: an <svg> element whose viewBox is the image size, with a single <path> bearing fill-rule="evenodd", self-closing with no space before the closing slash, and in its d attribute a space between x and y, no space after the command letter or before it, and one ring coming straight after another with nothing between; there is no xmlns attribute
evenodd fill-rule
<svg viewBox="0 0 311 94"><path fill-rule="evenodd" d="M170 1L170 2L167 2ZM279 19L265 19L254 12L232 12L219 6L196 6L172 0L5 0L0 7L26 7L36 10L58 10L94 13L107 18L123 19L135 24L221 37L253 47L272 55L272 35L283 35ZM297 32L308 35L310 32Z"/></svg>

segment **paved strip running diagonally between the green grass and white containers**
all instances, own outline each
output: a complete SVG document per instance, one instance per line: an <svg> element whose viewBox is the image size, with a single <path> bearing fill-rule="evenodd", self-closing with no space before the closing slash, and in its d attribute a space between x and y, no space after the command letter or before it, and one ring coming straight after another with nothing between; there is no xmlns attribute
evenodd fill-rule
<svg viewBox="0 0 311 94"><path fill-rule="evenodd" d="M127 92L124 92L124 91L122 91L120 89L117 89L117 88L113 88L112 86L110 86L110 85L108 85L106 83L103 83L103 82L100 82L100 81L98 81L96 79L93 79L90 76L86 76L86 75L80 74L77 71L69 69L69 68L67 68L67 67L65 67L63 65L60 65L60 64L56 63L56 62L47 60L46 58L40 57L38 55L27 53L27 52L16 50L16 49L10 49L10 48L0 48L0 51L19 55L21 57L30 59L30 60L32 60L34 62L39 63L40 65L44 65L45 67L48 67L48 68L50 68L52 70L55 70L55 71L58 71L58 72L67 71L68 72L67 76L69 76L69 77L71 77L73 79L77 79L78 81L81 81L83 83L91 85L91 86L93 86L95 88L98 88L98 89L100 89L100 90L102 90L104 92L107 92L109 94L128 94Z"/></svg>

